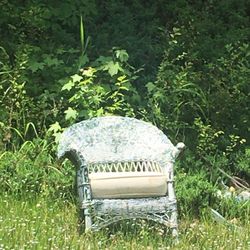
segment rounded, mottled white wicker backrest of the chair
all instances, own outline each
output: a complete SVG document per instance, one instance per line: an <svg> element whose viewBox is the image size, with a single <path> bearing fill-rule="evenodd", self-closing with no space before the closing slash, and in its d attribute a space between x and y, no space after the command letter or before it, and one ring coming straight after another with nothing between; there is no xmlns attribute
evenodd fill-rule
<svg viewBox="0 0 250 250"><path fill-rule="evenodd" d="M73 151L82 155L93 172L103 166L106 166L104 171L112 171L115 166L122 171L143 168L143 162L149 163L144 168L149 167L150 171L150 166L164 167L173 162L179 153L178 147L157 127L119 116L93 118L66 129L59 142L58 157L67 157ZM117 162L120 165L112 166Z"/></svg>

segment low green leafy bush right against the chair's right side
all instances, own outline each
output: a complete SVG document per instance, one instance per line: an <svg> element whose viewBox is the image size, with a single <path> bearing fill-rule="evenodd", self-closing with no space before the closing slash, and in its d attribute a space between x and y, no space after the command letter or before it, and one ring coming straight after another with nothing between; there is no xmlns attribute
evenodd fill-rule
<svg viewBox="0 0 250 250"><path fill-rule="evenodd" d="M216 186L204 163L188 150L176 164L175 187L181 216L200 216L215 202Z"/></svg>

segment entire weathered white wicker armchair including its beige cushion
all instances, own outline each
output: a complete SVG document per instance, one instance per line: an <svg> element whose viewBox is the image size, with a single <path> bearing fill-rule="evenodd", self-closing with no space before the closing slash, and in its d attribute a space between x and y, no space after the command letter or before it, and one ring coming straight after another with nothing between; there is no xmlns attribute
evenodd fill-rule
<svg viewBox="0 0 250 250"><path fill-rule="evenodd" d="M173 163L183 148L150 123L128 117L93 118L65 130L58 157L77 167L85 230L144 218L177 236Z"/></svg>

